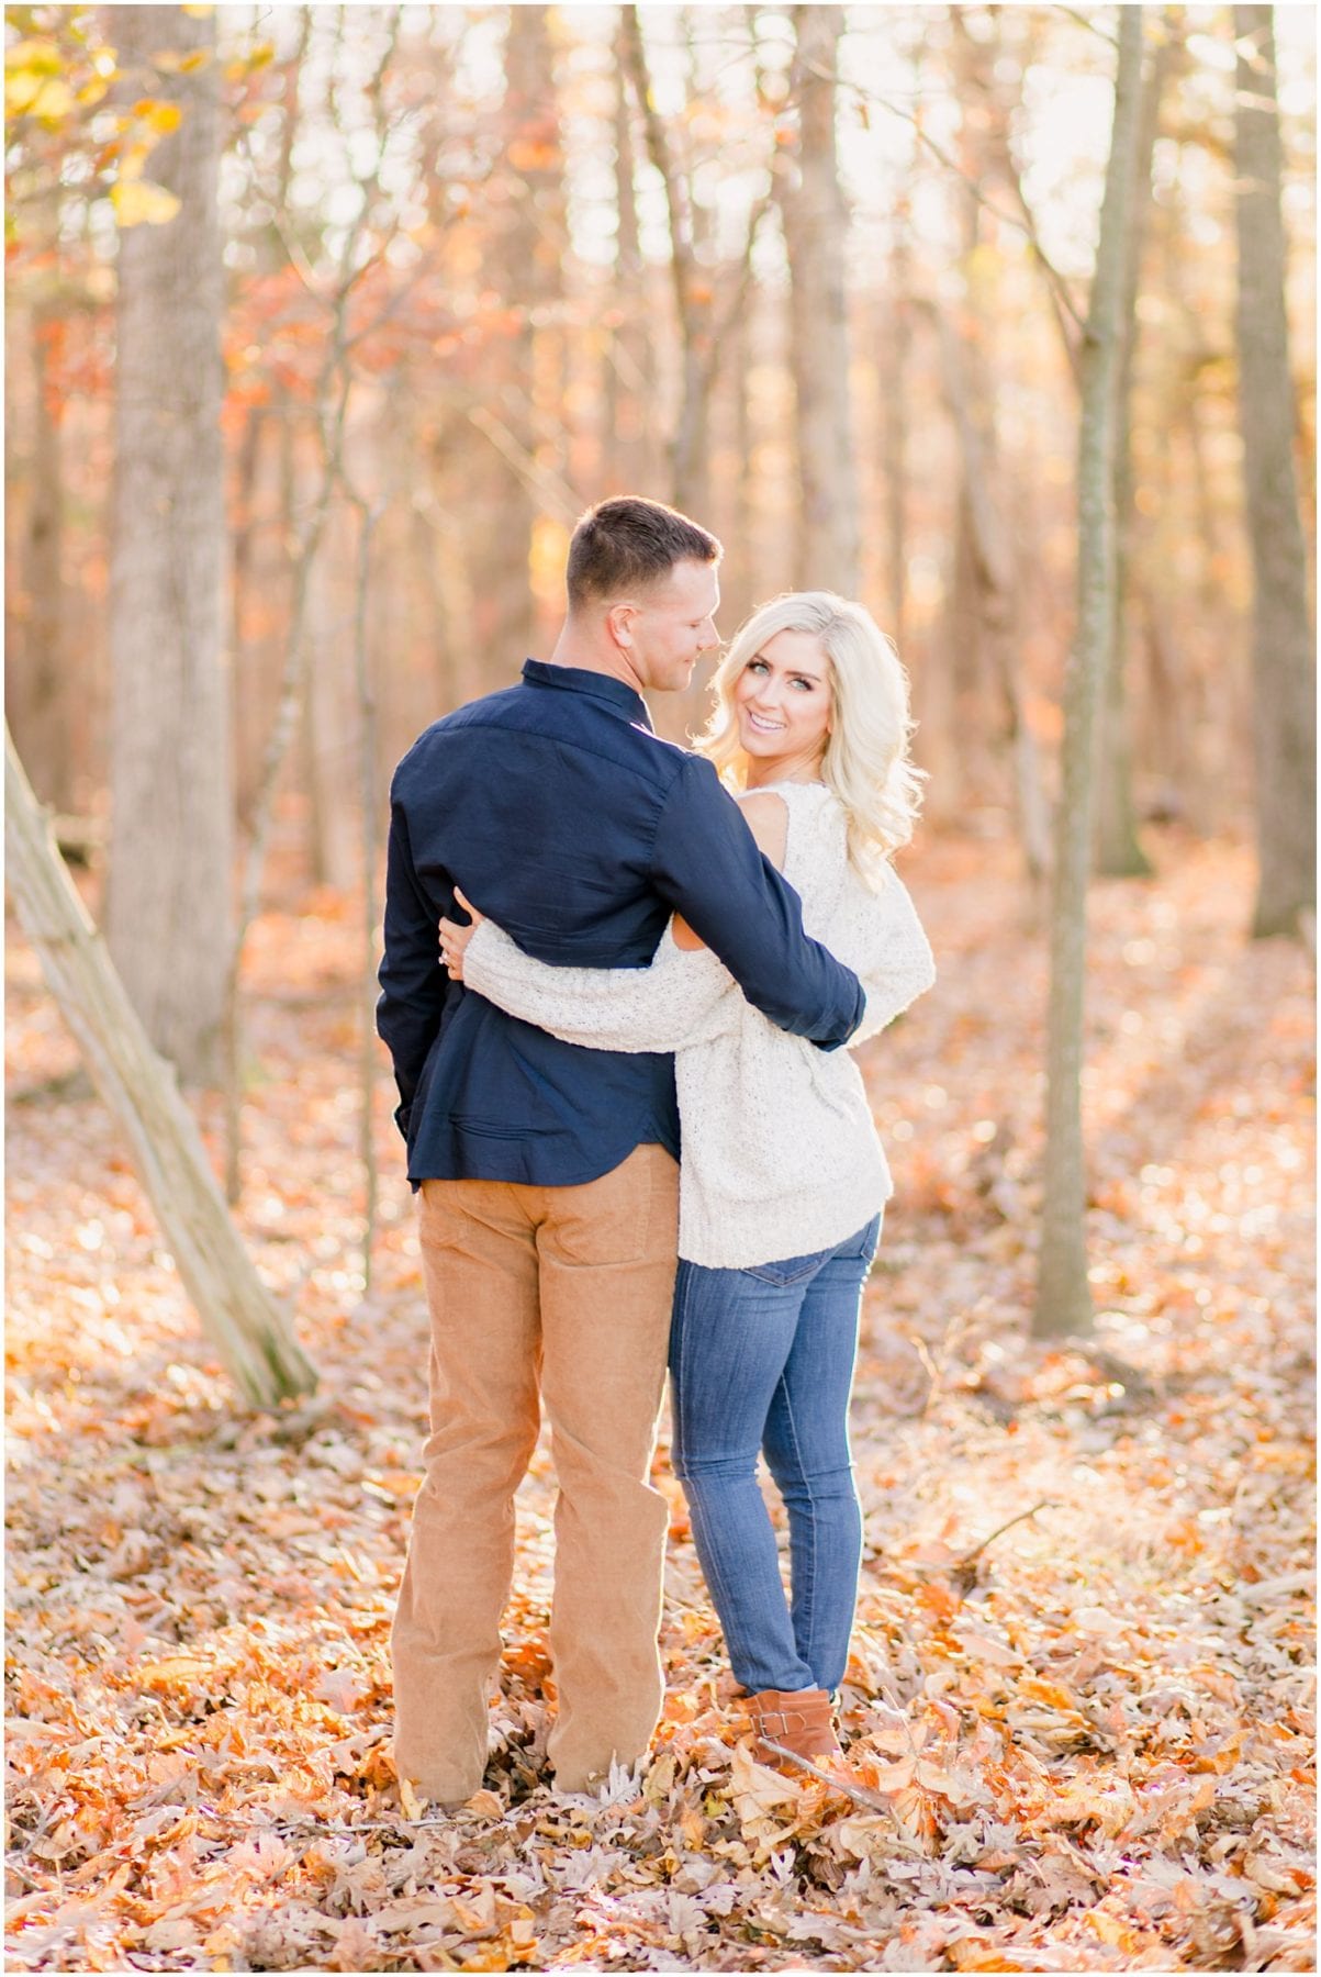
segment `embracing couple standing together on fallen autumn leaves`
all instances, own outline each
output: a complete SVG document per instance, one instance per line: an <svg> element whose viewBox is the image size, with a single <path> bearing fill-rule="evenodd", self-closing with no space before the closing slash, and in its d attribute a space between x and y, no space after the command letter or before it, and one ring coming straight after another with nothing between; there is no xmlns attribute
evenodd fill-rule
<svg viewBox="0 0 1321 1977"><path fill-rule="evenodd" d="M394 781L378 1022L431 1311L396 1763L441 1805L483 1781L542 1406L556 1785L647 1756L666 1362L753 1752L838 1756L862 1550L848 1392L890 1194L842 1046L933 979L890 866L918 773L894 646L827 591L742 627L696 753L653 733L643 694L684 688L718 643L720 554L659 502L589 510L552 658L429 728Z"/></svg>

